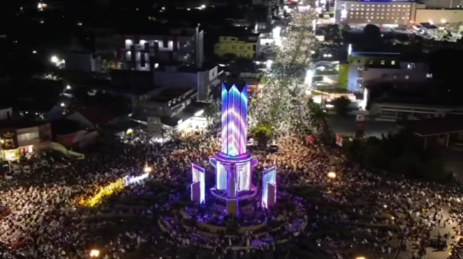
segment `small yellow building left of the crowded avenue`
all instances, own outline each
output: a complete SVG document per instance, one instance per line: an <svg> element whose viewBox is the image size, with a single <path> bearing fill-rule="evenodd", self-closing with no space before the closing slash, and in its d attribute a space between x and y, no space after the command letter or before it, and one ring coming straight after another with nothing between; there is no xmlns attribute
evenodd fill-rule
<svg viewBox="0 0 463 259"><path fill-rule="evenodd" d="M221 58L233 56L256 59L260 49L259 38L259 34L253 33L237 37L220 36L219 42L214 45L214 54Z"/></svg>

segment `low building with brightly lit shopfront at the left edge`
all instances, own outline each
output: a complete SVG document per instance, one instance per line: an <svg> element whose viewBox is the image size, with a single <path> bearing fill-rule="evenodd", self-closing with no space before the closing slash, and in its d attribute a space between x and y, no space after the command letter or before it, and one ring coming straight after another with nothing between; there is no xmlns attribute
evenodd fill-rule
<svg viewBox="0 0 463 259"><path fill-rule="evenodd" d="M0 158L17 160L30 152L50 148L50 123L37 123L22 118L0 120Z"/></svg>

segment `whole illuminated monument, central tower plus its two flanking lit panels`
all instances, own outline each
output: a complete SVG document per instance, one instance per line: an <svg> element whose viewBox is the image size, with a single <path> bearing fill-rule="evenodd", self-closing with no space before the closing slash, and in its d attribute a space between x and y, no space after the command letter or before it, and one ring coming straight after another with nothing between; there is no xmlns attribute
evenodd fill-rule
<svg viewBox="0 0 463 259"><path fill-rule="evenodd" d="M238 201L256 196L252 185L252 168L257 159L247 148L247 84L222 84L222 132L221 152L210 162L216 168L216 185L211 193L216 198L226 200L227 214L237 215ZM205 201L204 169L193 164L191 200ZM263 207L271 207L276 198L277 169L267 169L263 175Z"/></svg>

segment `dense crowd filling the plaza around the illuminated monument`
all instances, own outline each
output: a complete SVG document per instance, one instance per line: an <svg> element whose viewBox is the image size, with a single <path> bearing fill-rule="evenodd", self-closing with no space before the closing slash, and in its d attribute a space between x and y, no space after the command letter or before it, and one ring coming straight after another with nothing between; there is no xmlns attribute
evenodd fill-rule
<svg viewBox="0 0 463 259"><path fill-rule="evenodd" d="M277 202L303 209L295 210L284 228L208 239L194 226L188 230L168 217L172 203L189 197L191 163L214 171L207 157L218 146L214 136L161 145L138 131L67 168L44 167L2 181L2 258L88 258L95 247L103 258L126 258L146 245L160 249L143 258L353 258L359 251L379 258L395 253L421 258L436 238L455 243L451 257L463 254L457 242L463 231L463 213L456 209L462 201L460 185L369 173L346 161L336 148L302 146L289 136L279 139L281 152L256 155L253 182L261 182L258 172L263 168L277 165L279 188L285 190ZM95 207L79 205L111 182L141 175L146 164L153 173L145 184L126 187ZM336 177L327 177L328 172ZM150 187L152 180L169 188ZM172 226L166 226L169 222ZM94 231L101 228L105 231Z"/></svg>

